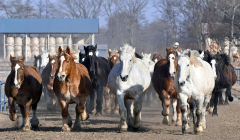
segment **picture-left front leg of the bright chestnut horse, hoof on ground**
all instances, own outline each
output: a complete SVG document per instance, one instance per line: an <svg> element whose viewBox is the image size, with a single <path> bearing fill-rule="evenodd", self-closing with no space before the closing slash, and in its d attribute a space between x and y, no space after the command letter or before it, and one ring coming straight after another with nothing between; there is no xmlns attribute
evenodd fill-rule
<svg viewBox="0 0 240 140"><path fill-rule="evenodd" d="M62 118L63 118L63 127L62 127L62 131L70 131L71 130L71 117L68 114L68 105L66 104L65 101L63 100L59 100L59 103L61 105L62 108Z"/></svg>

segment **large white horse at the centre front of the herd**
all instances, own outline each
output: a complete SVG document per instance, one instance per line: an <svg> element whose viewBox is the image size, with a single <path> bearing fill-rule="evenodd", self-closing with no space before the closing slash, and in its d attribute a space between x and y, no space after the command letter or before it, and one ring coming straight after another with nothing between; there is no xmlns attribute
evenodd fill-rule
<svg viewBox="0 0 240 140"><path fill-rule="evenodd" d="M112 68L108 75L108 86L117 94L120 113L120 129L128 127L138 129L141 125L142 94L149 87L151 76L143 62L135 57L135 48L128 44L120 47L120 63ZM133 114L131 104L134 100ZM127 122L126 122L127 119Z"/></svg>

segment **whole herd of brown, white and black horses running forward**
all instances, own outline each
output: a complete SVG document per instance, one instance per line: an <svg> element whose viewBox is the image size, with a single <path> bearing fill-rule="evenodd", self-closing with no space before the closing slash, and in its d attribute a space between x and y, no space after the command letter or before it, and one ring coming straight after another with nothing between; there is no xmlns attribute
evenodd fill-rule
<svg viewBox="0 0 240 140"><path fill-rule="evenodd" d="M11 72L5 85L10 119L18 118L17 104L23 118L21 128L30 130L32 108L30 123L32 129L37 129L36 110L43 92L48 110L61 106L63 131L80 130L79 116L87 120L89 114L99 117L102 111L120 114L121 131L138 130L143 101L150 103L158 95L164 124L170 123L172 105L172 121L182 125L182 133L189 128L189 116L198 133L206 129L206 109L217 115L218 104L233 101L231 88L237 76L226 54L167 47L166 59L160 54L154 54L151 59L151 54L139 55L128 44L119 50L109 49L108 59L97 56L97 45L84 46L84 51L76 62L76 55L69 47L65 50L59 47L57 55L45 50L34 57L34 66L24 65L24 56L10 56ZM69 104L76 104L72 128Z"/></svg>

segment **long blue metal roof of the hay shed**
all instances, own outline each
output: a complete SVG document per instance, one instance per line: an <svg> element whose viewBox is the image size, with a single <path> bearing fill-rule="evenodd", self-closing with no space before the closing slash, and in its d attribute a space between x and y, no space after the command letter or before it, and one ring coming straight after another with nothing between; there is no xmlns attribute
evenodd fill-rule
<svg viewBox="0 0 240 140"><path fill-rule="evenodd" d="M99 19L0 19L0 33L98 33Z"/></svg>

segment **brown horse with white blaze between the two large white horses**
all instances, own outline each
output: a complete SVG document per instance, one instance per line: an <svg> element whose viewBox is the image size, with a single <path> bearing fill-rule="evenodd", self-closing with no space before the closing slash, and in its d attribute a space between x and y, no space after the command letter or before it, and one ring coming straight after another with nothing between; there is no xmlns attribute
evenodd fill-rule
<svg viewBox="0 0 240 140"><path fill-rule="evenodd" d="M164 116L163 123L169 124L169 106L171 104L170 102L172 101L172 121L175 122L177 120L177 125L181 125L181 104L178 93L174 87L174 76L178 70L176 50L174 48L169 49L167 47L166 51L167 59L161 59L154 67L152 84L155 91L158 93L160 100L162 101L162 115Z"/></svg>

